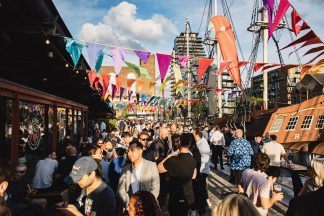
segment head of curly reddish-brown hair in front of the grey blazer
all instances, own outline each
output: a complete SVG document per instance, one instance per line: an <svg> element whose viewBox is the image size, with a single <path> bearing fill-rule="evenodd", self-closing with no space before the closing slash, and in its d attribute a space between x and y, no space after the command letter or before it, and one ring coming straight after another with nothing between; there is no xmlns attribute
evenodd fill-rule
<svg viewBox="0 0 324 216"><path fill-rule="evenodd" d="M129 216L162 216L162 211L151 192L137 191L129 201Z"/></svg>

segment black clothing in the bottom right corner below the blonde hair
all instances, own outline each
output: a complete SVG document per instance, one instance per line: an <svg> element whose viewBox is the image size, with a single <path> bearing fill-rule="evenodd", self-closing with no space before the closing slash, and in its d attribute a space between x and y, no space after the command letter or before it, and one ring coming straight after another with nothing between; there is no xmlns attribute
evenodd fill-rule
<svg viewBox="0 0 324 216"><path fill-rule="evenodd" d="M324 212L324 187L290 200L286 216L317 216Z"/></svg>

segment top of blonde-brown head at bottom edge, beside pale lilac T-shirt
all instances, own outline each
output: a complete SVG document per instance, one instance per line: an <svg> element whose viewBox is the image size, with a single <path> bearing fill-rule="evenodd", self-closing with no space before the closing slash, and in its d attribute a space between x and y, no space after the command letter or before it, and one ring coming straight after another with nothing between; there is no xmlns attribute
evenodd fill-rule
<svg viewBox="0 0 324 216"><path fill-rule="evenodd" d="M260 216L253 203L241 194L230 194L220 200L212 216Z"/></svg>

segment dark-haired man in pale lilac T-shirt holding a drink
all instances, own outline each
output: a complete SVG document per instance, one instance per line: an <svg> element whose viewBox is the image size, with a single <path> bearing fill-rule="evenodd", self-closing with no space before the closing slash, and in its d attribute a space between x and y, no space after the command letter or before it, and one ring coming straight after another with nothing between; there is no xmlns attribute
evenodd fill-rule
<svg viewBox="0 0 324 216"><path fill-rule="evenodd" d="M270 159L264 153L258 153L253 159L253 169L246 169L242 173L240 185L247 197L253 202L260 215L266 216L268 209L277 201L283 199L282 192L271 190L271 182L264 172L268 169ZM271 193L272 191L272 193ZM271 194L271 198L270 198Z"/></svg>

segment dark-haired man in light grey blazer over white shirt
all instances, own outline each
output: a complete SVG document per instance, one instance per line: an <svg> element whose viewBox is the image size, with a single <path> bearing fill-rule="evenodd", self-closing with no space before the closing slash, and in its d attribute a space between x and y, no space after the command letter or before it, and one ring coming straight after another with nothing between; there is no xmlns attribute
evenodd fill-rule
<svg viewBox="0 0 324 216"><path fill-rule="evenodd" d="M143 145L134 142L128 147L128 157L131 163L125 165L118 184L118 197L125 209L128 209L129 199L137 191L149 191L155 198L159 195L160 179L154 162L143 159Z"/></svg>

